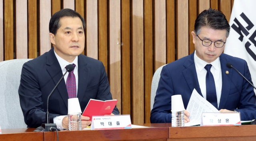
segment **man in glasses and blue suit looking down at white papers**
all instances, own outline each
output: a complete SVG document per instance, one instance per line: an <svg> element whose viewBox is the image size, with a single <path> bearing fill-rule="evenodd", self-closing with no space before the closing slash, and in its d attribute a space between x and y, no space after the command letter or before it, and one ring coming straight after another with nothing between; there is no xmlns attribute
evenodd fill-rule
<svg viewBox="0 0 256 141"><path fill-rule="evenodd" d="M244 121L256 118L253 87L226 66L232 63L252 83L246 61L222 54L229 31L222 12L210 8L198 15L191 32L195 52L162 68L151 123L171 123L171 96L182 95L186 109L194 89L220 112L239 111ZM186 110L184 113L187 123L190 113Z"/></svg>

